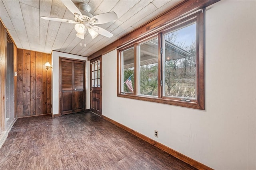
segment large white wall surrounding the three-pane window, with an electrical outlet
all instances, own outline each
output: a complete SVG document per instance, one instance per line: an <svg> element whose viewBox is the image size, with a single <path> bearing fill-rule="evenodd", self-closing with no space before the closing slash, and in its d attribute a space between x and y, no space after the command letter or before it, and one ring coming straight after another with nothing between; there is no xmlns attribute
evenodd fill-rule
<svg viewBox="0 0 256 170"><path fill-rule="evenodd" d="M256 1L205 12L205 110L120 98L102 57L102 114L214 169L256 169ZM154 130L159 137L154 137Z"/></svg>

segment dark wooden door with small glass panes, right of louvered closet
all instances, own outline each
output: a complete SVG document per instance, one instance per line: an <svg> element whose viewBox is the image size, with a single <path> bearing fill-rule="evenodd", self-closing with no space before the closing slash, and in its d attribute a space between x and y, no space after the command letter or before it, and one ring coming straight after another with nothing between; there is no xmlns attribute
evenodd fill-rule
<svg viewBox="0 0 256 170"><path fill-rule="evenodd" d="M90 64L90 102L91 111L102 114L102 72L101 57L94 59Z"/></svg>

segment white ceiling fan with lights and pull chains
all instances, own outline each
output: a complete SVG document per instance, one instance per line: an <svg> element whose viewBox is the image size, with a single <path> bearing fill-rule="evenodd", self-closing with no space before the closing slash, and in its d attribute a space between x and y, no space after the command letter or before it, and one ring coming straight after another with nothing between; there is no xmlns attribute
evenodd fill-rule
<svg viewBox="0 0 256 170"><path fill-rule="evenodd" d="M81 10L80 11L71 0L61 0L61 1L68 8L68 10L72 14L74 14L74 21L67 20L64 18L52 18L52 17L44 17L44 16L41 16L41 18L44 20L76 24L75 25L75 30L77 32L76 37L79 37L81 40L85 39L85 33L87 30L92 36L92 39L97 37L98 34L101 34L109 38L113 36L113 34L107 31L106 29L102 27L98 27L96 25L117 20L117 15L115 12L107 12L107 13L93 16L92 14L89 13L91 10L91 7L84 2L78 4L78 7ZM82 46L82 43L80 43L80 45ZM84 40L84 47L85 46L86 45Z"/></svg>

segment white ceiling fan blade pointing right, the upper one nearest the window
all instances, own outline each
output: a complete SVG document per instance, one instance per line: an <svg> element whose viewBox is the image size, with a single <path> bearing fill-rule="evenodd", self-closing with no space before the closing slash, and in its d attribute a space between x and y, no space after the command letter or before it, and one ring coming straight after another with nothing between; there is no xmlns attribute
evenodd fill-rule
<svg viewBox="0 0 256 170"><path fill-rule="evenodd" d="M95 20L94 20L95 19ZM115 12L107 12L103 14L96 15L91 18L94 24L102 24L110 21L117 20L117 15Z"/></svg>

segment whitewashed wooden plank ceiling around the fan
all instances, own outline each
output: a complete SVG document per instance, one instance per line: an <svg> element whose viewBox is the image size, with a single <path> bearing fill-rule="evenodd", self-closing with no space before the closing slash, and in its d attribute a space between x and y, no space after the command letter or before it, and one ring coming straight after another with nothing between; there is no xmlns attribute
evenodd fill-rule
<svg viewBox="0 0 256 170"><path fill-rule="evenodd" d="M72 0L90 5L95 16L116 12L118 20L98 25L111 33L108 38L92 39L86 33L86 47L80 46L74 24L43 20L40 16L74 20L73 14L60 0L1 0L0 18L20 49L51 53L52 50L90 56L108 44L163 14L182 0Z"/></svg>

